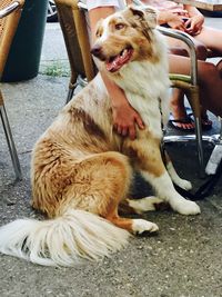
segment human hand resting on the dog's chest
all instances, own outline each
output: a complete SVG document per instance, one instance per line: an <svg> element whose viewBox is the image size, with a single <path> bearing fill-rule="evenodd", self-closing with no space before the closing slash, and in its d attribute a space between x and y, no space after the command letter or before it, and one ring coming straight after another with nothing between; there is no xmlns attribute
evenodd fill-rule
<svg viewBox="0 0 222 297"><path fill-rule="evenodd" d="M137 126L144 129L144 123L140 115L128 103L112 107L113 128L123 136L129 136L131 140L137 138Z"/></svg>

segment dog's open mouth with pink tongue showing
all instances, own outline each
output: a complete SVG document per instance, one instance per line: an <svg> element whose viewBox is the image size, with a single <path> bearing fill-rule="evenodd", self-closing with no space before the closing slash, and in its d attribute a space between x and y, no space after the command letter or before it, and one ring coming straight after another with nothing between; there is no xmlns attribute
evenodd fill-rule
<svg viewBox="0 0 222 297"><path fill-rule="evenodd" d="M132 57L133 49L125 48L118 56L111 57L108 62L105 62L107 70L110 72L118 71L123 65L125 65Z"/></svg>

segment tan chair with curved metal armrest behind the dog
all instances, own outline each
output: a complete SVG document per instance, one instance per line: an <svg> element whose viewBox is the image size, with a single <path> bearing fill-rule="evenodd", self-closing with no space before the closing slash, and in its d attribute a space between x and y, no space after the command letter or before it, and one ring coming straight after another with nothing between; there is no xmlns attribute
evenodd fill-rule
<svg viewBox="0 0 222 297"><path fill-rule="evenodd" d="M135 4L142 6L142 2L134 0ZM95 68L90 55L89 36L84 18L87 6L77 0L56 0L58 8L59 21L65 41L65 47L71 67L71 79L67 102L71 99L78 83L84 86L95 76ZM165 142L171 141L189 141L196 139L198 158L200 165L200 175L204 175L203 147L202 147L202 129L201 129L201 110L199 102L199 86L196 71L196 56L194 44L190 37L183 32L175 30L159 28L167 36L183 40L191 51L191 75L170 75L173 88L181 88L185 92L195 120L195 135L188 136L167 136ZM87 78L87 80L83 80Z"/></svg>

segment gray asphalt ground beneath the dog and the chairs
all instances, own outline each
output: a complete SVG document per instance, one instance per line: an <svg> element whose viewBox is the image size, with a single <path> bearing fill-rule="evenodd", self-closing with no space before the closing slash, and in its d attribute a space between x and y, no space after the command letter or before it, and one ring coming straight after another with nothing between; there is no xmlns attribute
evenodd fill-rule
<svg viewBox="0 0 222 297"><path fill-rule="evenodd" d="M221 24L221 19L208 19ZM4 83L4 98L23 179L14 184L13 169L0 126L0 225L20 217L38 217L30 201L30 154L34 141L64 103L69 72L58 24L48 24L41 68L37 78ZM60 67L61 66L61 67ZM59 69L59 70L58 70ZM48 75L47 75L48 73ZM218 128L216 128L218 129ZM205 159L211 147L205 147ZM170 145L169 151L181 176L194 189L203 182L198 175L195 146ZM0 296L109 296L109 297L220 297L222 296L222 182L200 201L202 214L184 217L171 210L144 216L155 221L157 236L131 238L129 246L101 263L73 268L40 267L0 256ZM135 196L148 194L137 179Z"/></svg>

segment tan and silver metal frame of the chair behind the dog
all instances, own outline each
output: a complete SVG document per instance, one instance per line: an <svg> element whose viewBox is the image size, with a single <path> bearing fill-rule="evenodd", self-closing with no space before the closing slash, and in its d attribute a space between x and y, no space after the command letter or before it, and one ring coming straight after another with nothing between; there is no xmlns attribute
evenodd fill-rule
<svg viewBox="0 0 222 297"><path fill-rule="evenodd" d="M134 0L134 4L138 6L144 6L140 0ZM72 98L72 95L74 92L75 87L80 83L82 86L85 86L87 81L89 82L94 76L95 76L95 69L93 67L92 57L90 53L90 42L89 42L89 36L85 26L85 18L84 12L87 11L87 6L78 0L56 0L56 4L58 8L58 14L59 20L61 24L61 29L64 36L64 41L67 46L67 51L69 56L69 61L71 66L71 79L70 79L70 86L69 86L69 93L67 98L67 102ZM65 8L67 7L67 8ZM62 10L64 9L71 9L73 14L73 24L75 27L75 34L77 40L79 42L79 50L81 52L82 61L87 61L88 68L84 69L84 71L80 71L80 76L78 76L77 67L74 68L73 65L73 55L70 55L70 47L71 43L68 37L68 32L65 28L65 19L62 14ZM68 21L68 20L67 20ZM78 36L78 28L81 28L81 31L84 28L84 32L79 33ZM195 121L195 135L184 135L184 136L165 136L164 142L171 142L171 141L189 141L189 140L196 140L196 150L198 150L198 159L199 159L199 168L200 168L200 176L204 176L204 159L203 159L203 143L202 143L202 127L201 127L201 109L200 109L200 100L199 100L199 86L198 86L198 66L196 66L196 53L194 43L189 37L189 34L180 32L178 30L167 29L159 27L158 28L163 34L173 37L176 39L182 40L185 42L190 49L190 58L191 58L191 70L190 76L182 76L182 75L170 75L170 79L172 82L173 88L181 88L185 92L189 102L191 105L191 108L193 110L194 115L194 121ZM79 32L81 32L79 31ZM69 40L69 42L68 42ZM72 42L73 46L73 42ZM73 50L72 50L73 51ZM85 60L84 60L85 59ZM89 61L91 61L89 63ZM75 62L77 63L77 62ZM84 63L85 65L85 63ZM89 69L90 67L90 69ZM74 76L73 76L74 73ZM90 75L89 75L90 73ZM87 81L82 80L82 75L85 75Z"/></svg>

